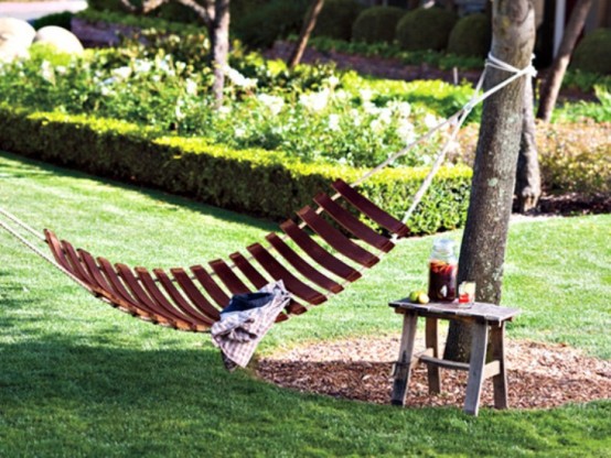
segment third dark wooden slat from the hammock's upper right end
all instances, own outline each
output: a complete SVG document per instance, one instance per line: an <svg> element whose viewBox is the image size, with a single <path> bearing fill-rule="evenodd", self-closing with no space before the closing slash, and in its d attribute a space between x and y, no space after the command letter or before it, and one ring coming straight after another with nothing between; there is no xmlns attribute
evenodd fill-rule
<svg viewBox="0 0 611 458"><path fill-rule="evenodd" d="M379 259L369 253L364 248L358 247L346 236L326 222L311 207L306 206L297 212L299 217L320 237L322 237L333 249L352 259L353 261L371 268L375 265Z"/></svg>

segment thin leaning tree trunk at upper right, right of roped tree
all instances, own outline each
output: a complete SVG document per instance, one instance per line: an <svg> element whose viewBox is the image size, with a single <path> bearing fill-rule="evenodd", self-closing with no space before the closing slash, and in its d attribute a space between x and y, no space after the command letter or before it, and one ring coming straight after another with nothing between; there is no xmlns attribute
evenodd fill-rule
<svg viewBox="0 0 611 458"><path fill-rule="evenodd" d="M545 122L549 122L551 119L551 112L556 106L558 99L558 92L562 85L562 78L567 72L567 67L570 62L570 55L577 43L577 39L583 29L592 0L578 0L577 4L572 9L569 23L562 35L558 55L551 64L549 75L542 88L542 96L539 101L539 109L537 111L537 118L543 119ZM601 57L602 58L602 57Z"/></svg>

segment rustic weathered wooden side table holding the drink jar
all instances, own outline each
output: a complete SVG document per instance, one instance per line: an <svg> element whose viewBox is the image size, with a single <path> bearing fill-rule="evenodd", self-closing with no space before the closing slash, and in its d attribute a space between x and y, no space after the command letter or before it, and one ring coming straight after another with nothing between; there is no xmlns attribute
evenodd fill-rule
<svg viewBox="0 0 611 458"><path fill-rule="evenodd" d="M457 303L414 304L401 299L388 304L404 315L399 358L395 364L393 397L395 405L405 405L410 369L418 362L428 367L430 393L441 392L440 368L469 371L464 412L478 415L482 382L492 377L494 406L507 407L507 377L505 373L504 336L505 323L521 313L517 308L500 307L494 304L474 303L469 308L459 308ZM418 317L426 318L426 350L414 355L414 340ZM472 325L471 359L469 363L439 358L438 320L460 320ZM486 349L490 336L490 362Z"/></svg>

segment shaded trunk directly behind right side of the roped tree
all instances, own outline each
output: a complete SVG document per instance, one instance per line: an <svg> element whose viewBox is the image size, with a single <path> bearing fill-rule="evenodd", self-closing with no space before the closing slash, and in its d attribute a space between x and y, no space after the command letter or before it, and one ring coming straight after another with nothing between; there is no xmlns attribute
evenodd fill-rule
<svg viewBox="0 0 611 458"><path fill-rule="evenodd" d="M517 211L524 214L537 206L542 195L542 178L537 144L535 142L535 108L533 106L533 85L524 86L524 108L522 139L517 156L515 195Z"/></svg>

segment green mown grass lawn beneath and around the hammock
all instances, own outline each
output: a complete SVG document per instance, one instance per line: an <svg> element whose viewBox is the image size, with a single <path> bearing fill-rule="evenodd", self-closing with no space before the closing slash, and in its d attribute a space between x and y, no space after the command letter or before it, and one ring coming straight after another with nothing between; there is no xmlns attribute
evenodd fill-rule
<svg viewBox="0 0 611 458"><path fill-rule="evenodd" d="M0 153L0 206L110 260L192 265L275 225ZM450 237L459 240L460 232ZM510 338L611 358L611 215L515 222ZM548 411L396 408L227 373L205 334L151 326L94 299L0 231L0 457L611 457L611 401ZM259 351L397 334L388 301L426 282L432 238L275 327ZM511 389L511 386L510 386Z"/></svg>

